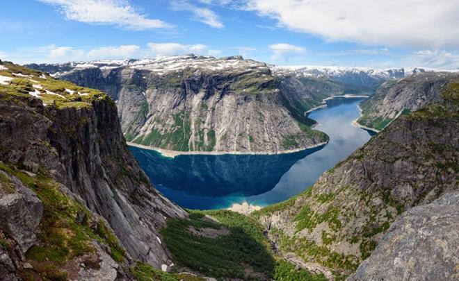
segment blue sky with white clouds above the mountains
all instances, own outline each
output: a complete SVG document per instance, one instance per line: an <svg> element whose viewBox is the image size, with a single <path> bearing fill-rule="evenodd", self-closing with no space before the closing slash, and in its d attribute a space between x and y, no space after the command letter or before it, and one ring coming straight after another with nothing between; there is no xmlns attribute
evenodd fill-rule
<svg viewBox="0 0 459 281"><path fill-rule="evenodd" d="M3 0L0 38L20 64L195 53L459 69L459 0Z"/></svg>

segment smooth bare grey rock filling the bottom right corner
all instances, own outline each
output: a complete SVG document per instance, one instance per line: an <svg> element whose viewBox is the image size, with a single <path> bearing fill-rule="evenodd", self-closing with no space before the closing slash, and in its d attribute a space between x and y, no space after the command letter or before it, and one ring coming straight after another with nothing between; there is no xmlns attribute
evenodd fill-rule
<svg viewBox="0 0 459 281"><path fill-rule="evenodd" d="M456 191L403 213L348 280L456 280L458 253Z"/></svg>

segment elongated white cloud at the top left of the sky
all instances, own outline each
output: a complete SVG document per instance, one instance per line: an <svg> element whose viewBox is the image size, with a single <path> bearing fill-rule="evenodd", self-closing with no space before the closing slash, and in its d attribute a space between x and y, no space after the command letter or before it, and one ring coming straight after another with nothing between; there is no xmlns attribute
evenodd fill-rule
<svg viewBox="0 0 459 281"><path fill-rule="evenodd" d="M127 0L38 0L58 7L65 18L88 24L117 25L142 31L151 28L168 28L170 24L159 19L149 19Z"/></svg>

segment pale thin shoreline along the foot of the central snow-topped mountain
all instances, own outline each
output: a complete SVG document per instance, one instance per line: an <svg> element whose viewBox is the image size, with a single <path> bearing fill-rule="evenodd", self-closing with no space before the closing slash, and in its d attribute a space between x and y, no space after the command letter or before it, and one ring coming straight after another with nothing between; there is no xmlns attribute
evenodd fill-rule
<svg viewBox="0 0 459 281"><path fill-rule="evenodd" d="M161 154L163 157L174 158L175 156L179 155L277 155L277 154L287 154L287 153L296 153L300 151L305 151L307 149L316 148L319 146L324 146L328 144L328 142L320 142L319 144L314 144L312 146L307 146L305 148L296 148L296 149L289 149L287 151L170 151L168 149L157 148L154 146L145 146L143 144L134 144L132 142L126 142L128 146L134 146L137 148L147 149L149 151L156 151L157 153Z"/></svg>

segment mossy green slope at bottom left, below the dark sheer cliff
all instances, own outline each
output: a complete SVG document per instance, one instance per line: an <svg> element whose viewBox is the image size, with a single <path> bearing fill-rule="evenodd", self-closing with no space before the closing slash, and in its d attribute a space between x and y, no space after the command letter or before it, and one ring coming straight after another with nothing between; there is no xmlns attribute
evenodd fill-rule
<svg viewBox="0 0 459 281"><path fill-rule="evenodd" d="M42 173L29 176L3 162L0 162L0 169L19 178L43 203L38 245L26 253L26 259L33 266L31 271L45 280L65 280L64 268L70 260L96 252L92 245L94 239L111 249L113 259L124 260L124 250L103 221L98 221L97 228L91 228L90 221L95 218L81 203L63 194L56 181Z"/></svg>

